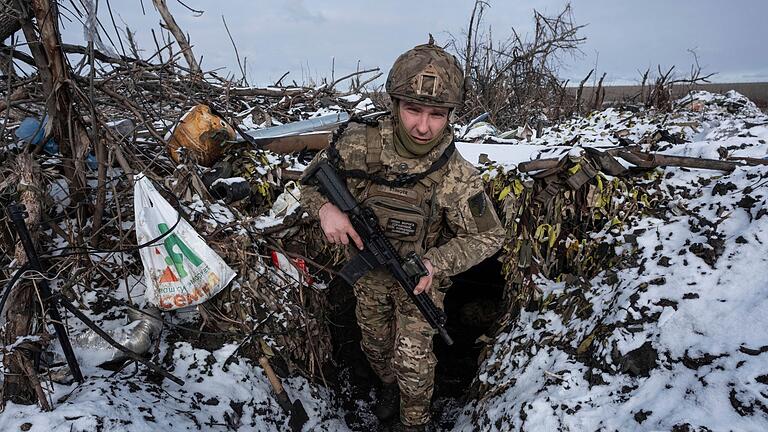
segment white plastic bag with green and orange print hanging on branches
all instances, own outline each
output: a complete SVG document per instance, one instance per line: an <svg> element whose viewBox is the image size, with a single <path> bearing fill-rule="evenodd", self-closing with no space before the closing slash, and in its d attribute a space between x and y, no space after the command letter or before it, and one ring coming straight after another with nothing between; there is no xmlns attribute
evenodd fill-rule
<svg viewBox="0 0 768 432"><path fill-rule="evenodd" d="M146 243L167 232L178 213L143 174L133 189L136 239ZM147 300L163 310L200 304L221 291L235 272L181 219L171 234L141 248Z"/></svg>

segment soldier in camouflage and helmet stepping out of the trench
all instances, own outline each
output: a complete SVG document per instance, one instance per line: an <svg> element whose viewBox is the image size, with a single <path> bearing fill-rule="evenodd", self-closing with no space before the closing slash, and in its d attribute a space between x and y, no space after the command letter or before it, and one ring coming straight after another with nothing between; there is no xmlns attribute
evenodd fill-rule
<svg viewBox="0 0 768 432"><path fill-rule="evenodd" d="M464 98L456 58L430 38L398 57L386 90L391 114L376 125L348 124L313 163L324 157L335 162L352 195L373 209L401 256L415 251L422 257L429 275L414 293L428 293L442 308L448 276L493 255L504 229L477 170L455 151L449 118ZM315 187L303 187L301 203L320 220L329 242L363 248L347 216ZM354 293L361 347L382 382L376 416L390 419L399 407L397 430L425 430L435 331L383 269L361 278Z"/></svg>

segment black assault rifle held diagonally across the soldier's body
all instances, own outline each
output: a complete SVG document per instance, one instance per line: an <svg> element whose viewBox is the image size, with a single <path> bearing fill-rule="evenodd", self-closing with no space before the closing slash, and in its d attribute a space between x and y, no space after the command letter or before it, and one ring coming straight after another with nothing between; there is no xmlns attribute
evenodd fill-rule
<svg viewBox="0 0 768 432"><path fill-rule="evenodd" d="M344 281L353 285L358 279L377 267L385 267L405 290L429 325L440 334L446 344L453 345L453 339L445 330L447 317L425 293L414 294L413 289L422 276L429 274L424 263L411 252L400 258L392 243L379 227L379 220L373 210L358 204L349 193L347 185L328 161L320 161L307 171L304 183L315 183L332 204L347 214L352 227L363 240L364 249L349 261L339 272Z"/></svg>

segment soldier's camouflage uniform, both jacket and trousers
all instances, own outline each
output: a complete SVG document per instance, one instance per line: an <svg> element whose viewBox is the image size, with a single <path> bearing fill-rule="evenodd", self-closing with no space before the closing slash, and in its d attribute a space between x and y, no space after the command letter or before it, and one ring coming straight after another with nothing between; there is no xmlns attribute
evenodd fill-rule
<svg viewBox="0 0 768 432"><path fill-rule="evenodd" d="M393 178L399 173L426 171L452 138L448 132L427 155L403 158L393 144L393 120L384 117L378 127L350 124L336 146L344 169L376 171ZM313 163L323 157L325 154L320 153ZM430 296L438 307L443 306L448 276L490 257L502 244L504 229L484 192L482 179L458 151L412 187L389 188L355 178L348 179L347 184L358 201L374 210L401 254L414 250L432 263L435 275ZM393 197L405 202L403 214L393 213L391 206L384 205ZM317 218L327 202L315 187L302 187L301 204L310 216ZM378 269L361 278L354 292L363 335L361 346L368 361L383 382L397 380L401 421L406 425L426 423L434 388L435 331L386 270Z"/></svg>

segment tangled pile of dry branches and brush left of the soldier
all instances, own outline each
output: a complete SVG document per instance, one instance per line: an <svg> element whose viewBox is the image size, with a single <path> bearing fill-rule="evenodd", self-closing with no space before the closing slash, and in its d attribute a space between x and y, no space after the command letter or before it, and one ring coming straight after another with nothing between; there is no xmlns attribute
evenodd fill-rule
<svg viewBox="0 0 768 432"><path fill-rule="evenodd" d="M165 2L154 3L160 12L168 13L162 10ZM74 13L87 21L89 11ZM247 177L258 192L252 194L254 199L227 205L215 202L210 184L203 181L215 169L197 165L188 154L177 164L169 157L166 141L179 119L197 104L214 108L225 122L245 129L304 120L321 108L352 110L355 103L342 96L359 93L366 82L380 76L378 69L321 85L278 82L257 88L244 86L244 77L234 80L215 70L202 70L183 33L173 32L180 49L163 36L166 40L156 50L141 56L126 29L127 53L118 55L116 48L96 43L94 34L87 46L62 43L55 2L2 2L0 18L19 24L32 54L18 49L24 44L18 38L0 49L0 63L7 65L0 78L5 84L0 89L0 205L19 201L30 191L45 192L35 201L43 204L35 212L40 219L29 225L39 232L39 253L54 292L88 314L107 309L120 313L139 306L132 300L140 294L135 286L143 271L135 248L132 175L143 172L165 186L169 201L177 203L177 210L238 272L230 288L200 308L198 329L214 330L224 340L241 343L244 354L267 353L290 371L322 379L332 352L322 314L327 294L322 284L302 283L292 279L290 269L273 267L270 253L324 260L319 268L332 266L341 255L318 247L318 232L298 235L301 224L265 229L253 216L272 206L283 190L283 171L294 164L301 166L306 155L276 155L242 141L226 142L225 151L238 172L233 176ZM170 14L163 18L173 27ZM350 83L350 91L336 90L344 82ZM20 140L17 132L29 121L37 122L37 130ZM41 136L35 138L38 133ZM21 159L40 166L41 175L36 177L40 184L29 186L32 189L25 189L28 182L19 181L28 170L12 165ZM14 258L17 238L6 217L0 219L0 227L0 266L7 283L23 262ZM23 281L20 287L30 284ZM26 300L12 301L23 328L6 326L6 346L26 346L14 343L32 331L27 324L33 319L41 322L35 331L48 332L40 312L44 308L37 304L39 296L30 289L24 292L29 294ZM165 320L177 337L199 336L191 328L172 325L172 315ZM36 342L38 351L48 339ZM14 358L6 352L6 372L12 375L6 376L5 384L14 386L19 381L17 387L21 387L9 390L4 398L45 403L36 397L41 394L36 393L39 385L23 380L32 378L29 365ZM154 360L172 367L168 358Z"/></svg>

